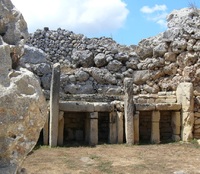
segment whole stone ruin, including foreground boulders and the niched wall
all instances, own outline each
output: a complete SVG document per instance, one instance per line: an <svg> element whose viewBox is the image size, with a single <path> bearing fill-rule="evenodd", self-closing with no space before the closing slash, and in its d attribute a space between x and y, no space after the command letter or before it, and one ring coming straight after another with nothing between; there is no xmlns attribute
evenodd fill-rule
<svg viewBox="0 0 200 174"><path fill-rule="evenodd" d="M39 134L51 147L200 139L199 10L125 46L60 28L28 35L0 2L0 173L16 173Z"/></svg>

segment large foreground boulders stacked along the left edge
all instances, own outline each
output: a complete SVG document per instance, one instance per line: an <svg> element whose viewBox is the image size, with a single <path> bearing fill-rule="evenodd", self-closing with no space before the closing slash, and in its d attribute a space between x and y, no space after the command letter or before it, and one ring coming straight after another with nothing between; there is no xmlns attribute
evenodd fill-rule
<svg viewBox="0 0 200 174"><path fill-rule="evenodd" d="M39 79L18 60L28 35L10 0L0 0L0 173L17 173L36 145L47 116ZM13 64L17 70L13 70Z"/></svg>

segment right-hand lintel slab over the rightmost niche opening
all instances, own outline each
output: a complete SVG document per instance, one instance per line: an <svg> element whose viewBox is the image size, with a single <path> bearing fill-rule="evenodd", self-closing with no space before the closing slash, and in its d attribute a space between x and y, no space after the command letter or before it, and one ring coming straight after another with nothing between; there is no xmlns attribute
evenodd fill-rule
<svg viewBox="0 0 200 174"><path fill-rule="evenodd" d="M175 110L178 111L181 109L181 104L179 103L157 103L156 110Z"/></svg>

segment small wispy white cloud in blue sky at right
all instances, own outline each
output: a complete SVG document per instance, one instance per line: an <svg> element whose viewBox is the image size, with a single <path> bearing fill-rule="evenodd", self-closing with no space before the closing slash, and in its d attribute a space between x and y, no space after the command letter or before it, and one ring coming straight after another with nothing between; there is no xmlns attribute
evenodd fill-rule
<svg viewBox="0 0 200 174"><path fill-rule="evenodd" d="M143 6L140 11L144 13L144 17L160 25L163 28L167 27L166 16L167 6L166 5L155 5L154 7Z"/></svg>

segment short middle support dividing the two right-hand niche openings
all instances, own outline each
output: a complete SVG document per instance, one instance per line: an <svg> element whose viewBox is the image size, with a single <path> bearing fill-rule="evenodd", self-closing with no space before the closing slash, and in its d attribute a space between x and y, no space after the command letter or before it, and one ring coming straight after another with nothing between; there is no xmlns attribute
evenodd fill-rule
<svg viewBox="0 0 200 174"><path fill-rule="evenodd" d="M151 143L160 143L160 111L152 112Z"/></svg>

